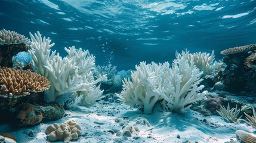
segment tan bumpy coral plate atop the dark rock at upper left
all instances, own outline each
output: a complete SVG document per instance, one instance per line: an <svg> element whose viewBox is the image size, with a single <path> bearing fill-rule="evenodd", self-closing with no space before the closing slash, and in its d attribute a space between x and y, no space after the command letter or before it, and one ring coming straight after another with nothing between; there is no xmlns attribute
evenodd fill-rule
<svg viewBox="0 0 256 143"><path fill-rule="evenodd" d="M18 43L25 43L29 45L29 39L26 38L24 35L20 35L17 32L5 30L0 30L0 44L18 44Z"/></svg>

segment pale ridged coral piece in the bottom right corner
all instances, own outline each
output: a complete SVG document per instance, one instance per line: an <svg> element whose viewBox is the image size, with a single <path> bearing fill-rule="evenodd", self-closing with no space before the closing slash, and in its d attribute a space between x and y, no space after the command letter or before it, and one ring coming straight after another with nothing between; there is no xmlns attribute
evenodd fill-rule
<svg viewBox="0 0 256 143"><path fill-rule="evenodd" d="M236 130L236 139L244 143L255 143L256 135L253 133L245 132L244 130Z"/></svg>

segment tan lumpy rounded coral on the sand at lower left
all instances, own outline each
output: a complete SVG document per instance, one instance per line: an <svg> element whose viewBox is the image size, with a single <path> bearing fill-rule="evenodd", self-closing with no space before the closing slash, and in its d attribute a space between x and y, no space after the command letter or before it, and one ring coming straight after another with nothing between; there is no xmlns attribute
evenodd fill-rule
<svg viewBox="0 0 256 143"><path fill-rule="evenodd" d="M81 135L81 127L75 122L75 120L67 120L67 122L61 125L53 124L47 127L45 133L48 135L50 141L64 141L69 142L72 139L78 139Z"/></svg>

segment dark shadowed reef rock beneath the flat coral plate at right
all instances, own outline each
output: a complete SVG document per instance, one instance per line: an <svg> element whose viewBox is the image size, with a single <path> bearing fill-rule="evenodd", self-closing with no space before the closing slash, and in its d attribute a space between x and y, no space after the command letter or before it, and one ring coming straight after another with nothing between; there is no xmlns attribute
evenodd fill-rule
<svg viewBox="0 0 256 143"><path fill-rule="evenodd" d="M256 72L244 65L247 53L228 55L223 58L225 70L219 72L224 91L246 97L254 97L256 93Z"/></svg>

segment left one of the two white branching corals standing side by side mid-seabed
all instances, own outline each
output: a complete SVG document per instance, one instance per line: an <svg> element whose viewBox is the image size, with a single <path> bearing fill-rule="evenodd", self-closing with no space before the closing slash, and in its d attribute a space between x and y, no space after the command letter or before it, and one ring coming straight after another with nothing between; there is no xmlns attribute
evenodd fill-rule
<svg viewBox="0 0 256 143"><path fill-rule="evenodd" d="M168 67L168 63L164 63ZM159 73L164 72L162 64L146 64L141 62L135 67L137 71L131 71L131 80L123 80L123 90L119 97L124 101L124 104L134 107L140 105L144 108L144 114L151 114L153 106L158 100L161 100L161 95L156 92L158 84L161 83L162 77Z"/></svg>

